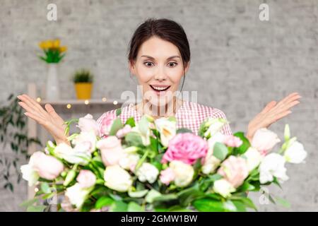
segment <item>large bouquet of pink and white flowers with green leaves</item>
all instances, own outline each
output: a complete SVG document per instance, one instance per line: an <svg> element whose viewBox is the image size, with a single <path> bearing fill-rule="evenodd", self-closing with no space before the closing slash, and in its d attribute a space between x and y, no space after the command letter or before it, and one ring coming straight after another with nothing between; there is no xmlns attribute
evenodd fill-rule
<svg viewBox="0 0 318 226"><path fill-rule="evenodd" d="M79 133L71 145L47 143L23 165L23 179L37 186L35 199L64 194L59 210L66 211L246 211L257 210L247 194L288 179L285 163L300 163L307 155L285 126L284 142L259 129L251 143L244 133L225 136L225 119L208 118L195 135L176 129L175 117L153 119L144 115L138 124L117 116L98 124L90 114L76 122ZM102 138L100 137L102 136ZM273 200L273 198L270 198Z"/></svg>

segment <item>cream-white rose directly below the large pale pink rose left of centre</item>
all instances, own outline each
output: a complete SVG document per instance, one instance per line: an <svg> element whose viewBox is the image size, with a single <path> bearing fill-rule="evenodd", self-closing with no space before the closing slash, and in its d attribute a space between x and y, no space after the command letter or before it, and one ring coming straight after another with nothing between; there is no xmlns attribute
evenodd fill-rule
<svg viewBox="0 0 318 226"><path fill-rule="evenodd" d="M105 186L121 192L128 191L133 183L129 172L126 172L126 170L119 167L119 165L106 167L104 180Z"/></svg>

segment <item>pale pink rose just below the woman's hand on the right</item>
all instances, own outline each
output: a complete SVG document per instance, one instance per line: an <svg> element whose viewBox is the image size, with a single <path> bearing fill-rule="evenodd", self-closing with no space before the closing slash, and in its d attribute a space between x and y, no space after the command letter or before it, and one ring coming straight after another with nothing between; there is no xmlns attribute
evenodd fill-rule
<svg viewBox="0 0 318 226"><path fill-rule="evenodd" d="M254 134L251 145L261 153L268 153L269 150L279 142L281 142L281 140L276 133L269 129L261 128Z"/></svg>

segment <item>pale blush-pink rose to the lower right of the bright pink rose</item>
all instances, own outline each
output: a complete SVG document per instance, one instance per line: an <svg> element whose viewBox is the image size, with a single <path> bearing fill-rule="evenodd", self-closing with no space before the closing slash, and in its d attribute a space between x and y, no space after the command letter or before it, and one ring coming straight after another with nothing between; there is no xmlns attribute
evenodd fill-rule
<svg viewBox="0 0 318 226"><path fill-rule="evenodd" d="M233 187L237 188L243 184L245 178L249 175L247 162L242 157L231 155L222 162L218 174L222 175Z"/></svg>

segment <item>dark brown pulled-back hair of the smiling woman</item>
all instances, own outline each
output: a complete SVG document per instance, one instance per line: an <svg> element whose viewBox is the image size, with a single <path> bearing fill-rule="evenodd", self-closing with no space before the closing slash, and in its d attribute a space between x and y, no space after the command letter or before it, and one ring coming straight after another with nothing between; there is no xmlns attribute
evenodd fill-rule
<svg viewBox="0 0 318 226"><path fill-rule="evenodd" d="M181 54L182 63L184 68L190 61L190 47L187 39L187 35L179 23L166 18L155 19L148 18L143 22L134 32L129 42L129 63L136 61L136 57L143 42L150 39L153 36L157 36L167 42L175 44ZM185 71L184 71L185 77ZM182 88L184 84L184 78L182 82ZM181 90L182 90L181 88Z"/></svg>

